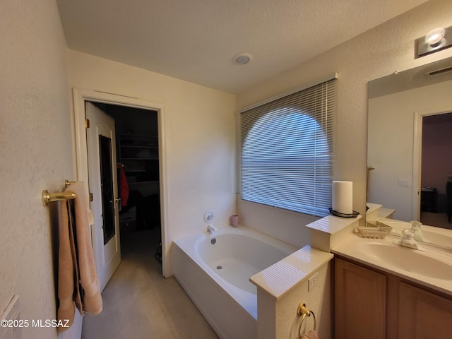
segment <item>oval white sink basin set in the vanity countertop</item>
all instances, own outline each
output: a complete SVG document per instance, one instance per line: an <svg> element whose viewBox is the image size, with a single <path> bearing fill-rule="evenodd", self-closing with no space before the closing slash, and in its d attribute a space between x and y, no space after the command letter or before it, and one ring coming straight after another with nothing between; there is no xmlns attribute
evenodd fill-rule
<svg viewBox="0 0 452 339"><path fill-rule="evenodd" d="M361 255L368 256L371 260L430 278L452 280L451 264L427 256L422 251L382 242L366 242L359 244L359 247L362 250Z"/></svg>

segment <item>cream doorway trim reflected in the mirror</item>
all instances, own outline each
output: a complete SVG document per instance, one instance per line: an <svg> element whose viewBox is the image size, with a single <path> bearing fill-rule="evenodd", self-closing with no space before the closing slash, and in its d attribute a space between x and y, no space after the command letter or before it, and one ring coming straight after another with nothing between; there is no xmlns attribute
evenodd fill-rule
<svg viewBox="0 0 452 339"><path fill-rule="evenodd" d="M421 166L422 166L422 118L452 112L452 105L430 107L415 112L412 152L412 220L420 221L421 210Z"/></svg>

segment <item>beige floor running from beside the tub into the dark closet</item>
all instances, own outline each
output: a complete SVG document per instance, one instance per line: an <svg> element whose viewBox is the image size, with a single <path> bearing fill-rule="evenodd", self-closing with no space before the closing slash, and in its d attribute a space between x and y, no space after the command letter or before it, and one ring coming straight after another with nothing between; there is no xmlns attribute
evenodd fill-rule
<svg viewBox="0 0 452 339"><path fill-rule="evenodd" d="M154 257L159 230L121 232L119 267L102 292L103 310L83 319L83 339L216 339L174 277Z"/></svg>

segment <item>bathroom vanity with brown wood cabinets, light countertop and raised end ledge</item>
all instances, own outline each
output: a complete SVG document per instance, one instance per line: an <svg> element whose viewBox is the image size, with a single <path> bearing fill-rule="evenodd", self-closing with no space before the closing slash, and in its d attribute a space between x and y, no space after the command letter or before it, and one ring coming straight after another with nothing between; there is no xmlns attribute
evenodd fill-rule
<svg viewBox="0 0 452 339"><path fill-rule="evenodd" d="M409 222L377 218L391 233L376 239L357 234L360 218L307 225L311 246L335 256L333 338L451 338L452 230L422 225L420 251L399 244Z"/></svg>

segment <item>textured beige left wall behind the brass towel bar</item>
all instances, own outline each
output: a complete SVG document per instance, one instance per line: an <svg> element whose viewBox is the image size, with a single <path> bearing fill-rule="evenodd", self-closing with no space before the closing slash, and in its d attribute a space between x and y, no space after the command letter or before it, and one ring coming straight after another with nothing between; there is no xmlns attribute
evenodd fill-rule
<svg viewBox="0 0 452 339"><path fill-rule="evenodd" d="M0 13L0 312L17 294L21 319L55 319L57 205L41 192L74 175L66 43L54 0L2 0Z"/></svg>

